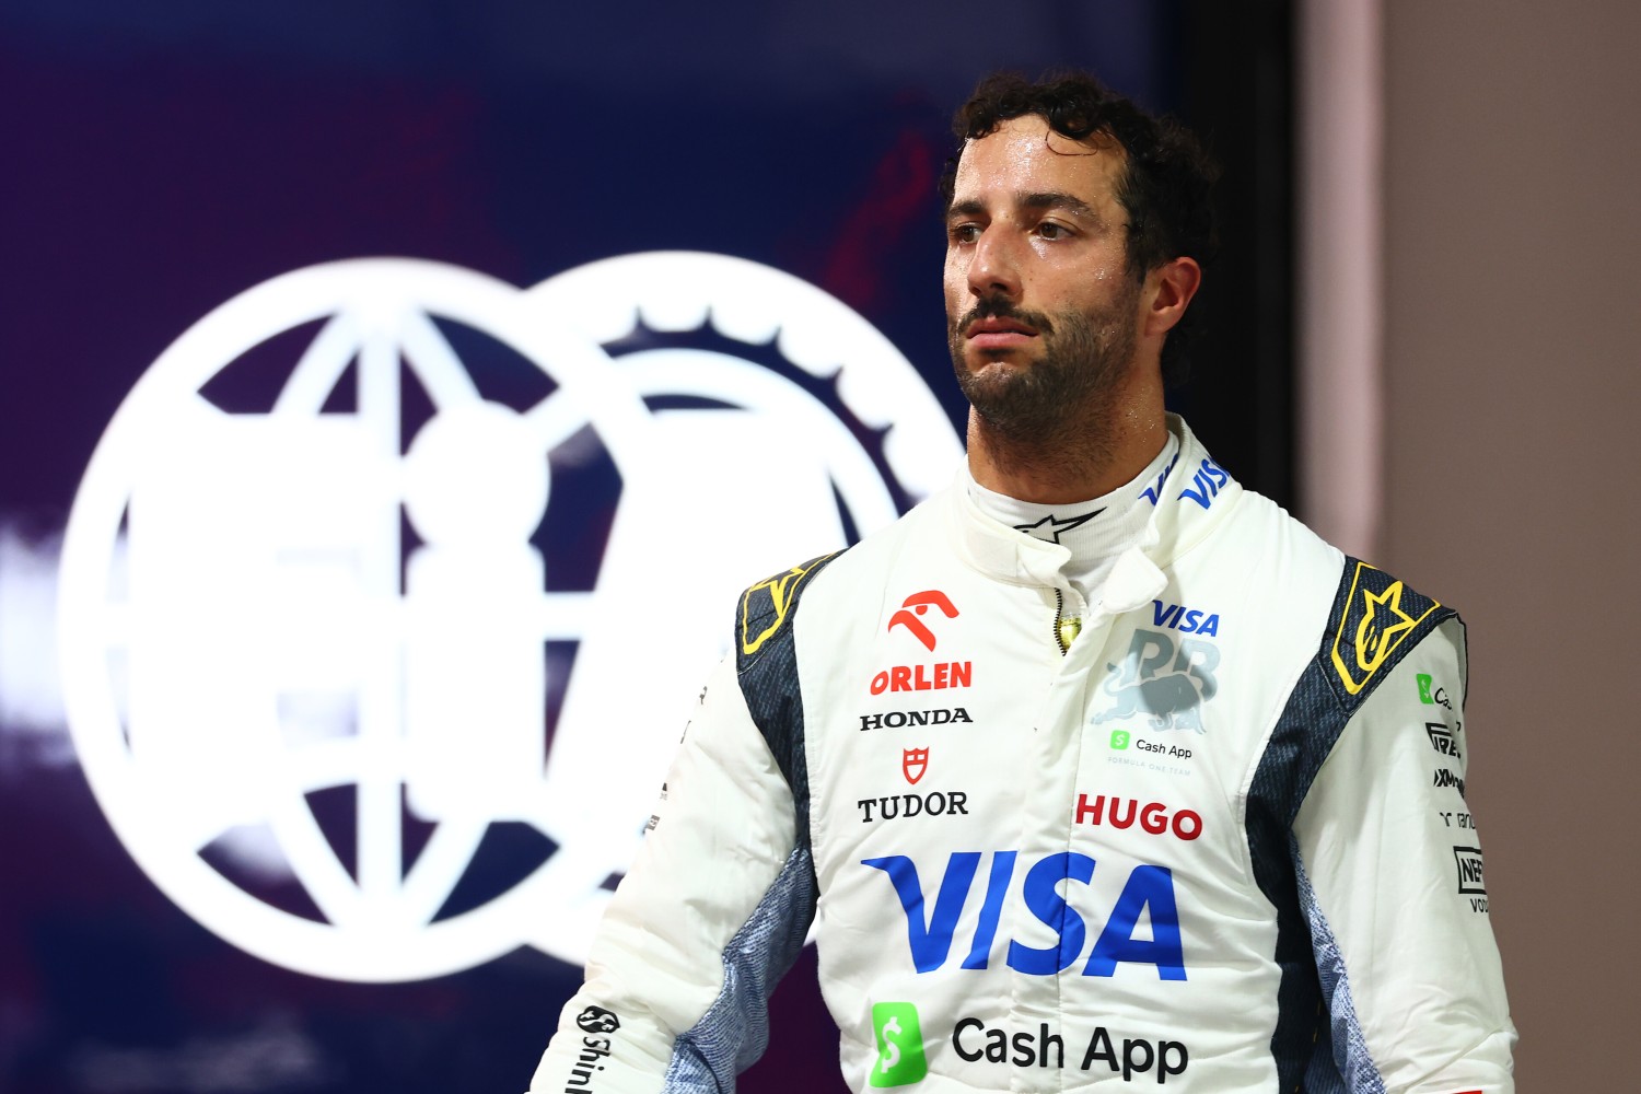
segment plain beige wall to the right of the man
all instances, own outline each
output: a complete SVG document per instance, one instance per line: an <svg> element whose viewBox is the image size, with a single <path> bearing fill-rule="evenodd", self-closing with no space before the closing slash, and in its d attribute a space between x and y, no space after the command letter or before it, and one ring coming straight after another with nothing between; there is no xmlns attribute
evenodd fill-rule
<svg viewBox="0 0 1641 1094"><path fill-rule="evenodd" d="M1385 564L1470 627L1521 1091L1638 1091L1641 3L1385 3Z"/></svg>

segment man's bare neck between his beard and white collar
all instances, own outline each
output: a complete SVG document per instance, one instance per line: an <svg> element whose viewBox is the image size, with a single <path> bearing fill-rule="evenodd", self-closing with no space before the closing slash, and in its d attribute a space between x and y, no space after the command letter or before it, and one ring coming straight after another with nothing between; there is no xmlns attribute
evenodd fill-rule
<svg viewBox="0 0 1641 1094"><path fill-rule="evenodd" d="M968 471L1022 502L1086 502L1134 479L1167 440L1160 382L1109 392L1031 436L1006 435L970 408Z"/></svg>

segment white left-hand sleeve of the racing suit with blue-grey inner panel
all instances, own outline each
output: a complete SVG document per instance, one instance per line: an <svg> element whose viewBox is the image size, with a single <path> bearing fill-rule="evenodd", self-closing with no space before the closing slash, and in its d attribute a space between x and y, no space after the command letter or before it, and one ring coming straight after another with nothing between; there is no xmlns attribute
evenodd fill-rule
<svg viewBox="0 0 1641 1094"><path fill-rule="evenodd" d="M734 658L661 799L532 1091L730 1089L768 1043L766 1001L814 915L814 868Z"/></svg>

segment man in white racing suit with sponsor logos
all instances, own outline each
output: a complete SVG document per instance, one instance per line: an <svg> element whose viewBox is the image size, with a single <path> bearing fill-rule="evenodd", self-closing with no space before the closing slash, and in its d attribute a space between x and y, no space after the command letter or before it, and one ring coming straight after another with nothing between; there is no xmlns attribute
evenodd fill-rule
<svg viewBox="0 0 1641 1094"><path fill-rule="evenodd" d="M1086 77L958 134L967 474L745 592L533 1089L732 1089L814 919L857 1091L1511 1091L1459 618L1163 412L1206 159Z"/></svg>

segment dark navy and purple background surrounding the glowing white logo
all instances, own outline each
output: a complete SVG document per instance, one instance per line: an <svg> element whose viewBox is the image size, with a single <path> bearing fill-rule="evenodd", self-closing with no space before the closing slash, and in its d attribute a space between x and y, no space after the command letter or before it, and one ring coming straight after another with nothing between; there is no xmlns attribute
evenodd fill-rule
<svg viewBox="0 0 1641 1094"><path fill-rule="evenodd" d="M1287 7L1209 7L13 0L0 523L59 533L97 438L172 340L345 258L522 287L632 251L738 254L860 310L960 420L935 180L952 108L999 66L1091 67L1203 125L1227 161L1241 228L1201 303L1224 348L1180 405L1282 499ZM579 969L533 950L395 986L274 968L162 897L79 769L41 748L0 727L0 1091L527 1086ZM743 1089L840 1089L812 981L811 953Z"/></svg>

